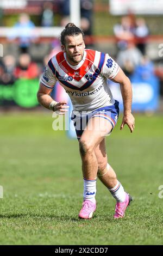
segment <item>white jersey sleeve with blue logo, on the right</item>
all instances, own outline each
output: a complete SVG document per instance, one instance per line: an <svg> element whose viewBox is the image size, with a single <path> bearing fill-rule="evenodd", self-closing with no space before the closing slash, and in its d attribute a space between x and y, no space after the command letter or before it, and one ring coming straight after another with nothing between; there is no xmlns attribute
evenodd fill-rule
<svg viewBox="0 0 163 256"><path fill-rule="evenodd" d="M102 68L102 76L112 79L114 78L117 74L118 71L120 70L120 66L115 62L114 59L112 59L108 53L105 54L105 61L103 64Z"/></svg>

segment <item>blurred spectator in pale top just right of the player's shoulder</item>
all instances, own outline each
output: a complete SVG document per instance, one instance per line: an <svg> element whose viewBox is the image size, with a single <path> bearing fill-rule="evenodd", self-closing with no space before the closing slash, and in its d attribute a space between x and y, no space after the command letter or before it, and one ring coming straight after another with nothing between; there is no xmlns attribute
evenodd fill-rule
<svg viewBox="0 0 163 256"><path fill-rule="evenodd" d="M142 53L135 47L133 42L128 42L127 48L117 55L117 63L127 76L133 74L137 65L141 63Z"/></svg>

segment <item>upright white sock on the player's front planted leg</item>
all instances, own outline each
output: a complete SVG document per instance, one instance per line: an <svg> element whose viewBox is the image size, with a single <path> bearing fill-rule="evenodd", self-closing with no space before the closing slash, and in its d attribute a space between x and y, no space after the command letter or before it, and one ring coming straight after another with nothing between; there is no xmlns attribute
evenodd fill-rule
<svg viewBox="0 0 163 256"><path fill-rule="evenodd" d="M93 203L96 203L95 196L96 196L96 179L95 180L88 180L83 178L84 180L84 192L83 192L83 199L90 200Z"/></svg>

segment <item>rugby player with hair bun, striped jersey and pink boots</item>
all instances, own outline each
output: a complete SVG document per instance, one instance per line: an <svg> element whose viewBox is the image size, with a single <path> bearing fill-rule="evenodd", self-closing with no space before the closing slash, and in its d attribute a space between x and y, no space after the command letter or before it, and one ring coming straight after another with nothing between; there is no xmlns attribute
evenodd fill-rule
<svg viewBox="0 0 163 256"><path fill-rule="evenodd" d="M71 119L79 141L84 180L79 218L89 219L96 210L97 176L116 199L114 218L122 218L132 198L124 191L107 160L105 137L114 129L119 114L118 101L112 97L107 80L120 83L124 105L121 130L127 124L133 132L135 121L131 114L130 80L108 53L85 49L83 31L73 23L66 25L60 40L62 51L49 60L37 98L42 106L65 114L67 103L56 102L50 96L59 81L72 101Z"/></svg>

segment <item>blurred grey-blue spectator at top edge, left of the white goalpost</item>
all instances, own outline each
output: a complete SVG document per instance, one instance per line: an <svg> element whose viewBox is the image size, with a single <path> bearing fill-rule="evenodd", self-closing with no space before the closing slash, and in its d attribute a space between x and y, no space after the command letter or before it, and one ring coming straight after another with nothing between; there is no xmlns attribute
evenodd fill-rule
<svg viewBox="0 0 163 256"><path fill-rule="evenodd" d="M44 2L42 14L41 14L41 26L52 27L54 23L53 21L54 21L53 3Z"/></svg>

